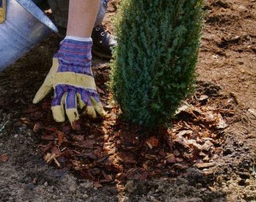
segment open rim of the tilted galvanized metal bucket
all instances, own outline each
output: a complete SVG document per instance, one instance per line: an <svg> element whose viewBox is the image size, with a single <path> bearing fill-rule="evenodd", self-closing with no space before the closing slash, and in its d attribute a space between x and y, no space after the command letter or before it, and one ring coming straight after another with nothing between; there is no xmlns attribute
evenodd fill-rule
<svg viewBox="0 0 256 202"><path fill-rule="evenodd" d="M38 6L33 3L32 1L27 0L15 0L17 3L20 4L20 6L23 7L23 9L26 9L26 11L30 14L32 14L37 20L39 20L42 24L45 26L48 26L50 30L53 32L58 32L57 27L55 24L49 20L49 17L44 14L44 12L38 8Z"/></svg>

